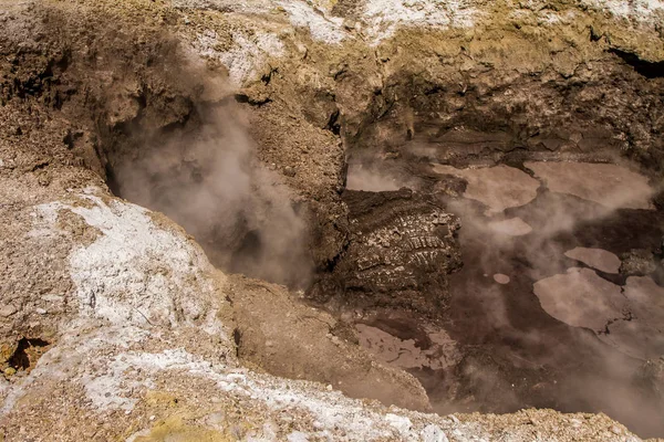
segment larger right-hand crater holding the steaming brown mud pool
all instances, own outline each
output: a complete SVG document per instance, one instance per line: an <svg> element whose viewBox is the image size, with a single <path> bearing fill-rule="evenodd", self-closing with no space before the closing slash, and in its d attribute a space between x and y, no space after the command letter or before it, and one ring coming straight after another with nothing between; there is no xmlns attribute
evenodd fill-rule
<svg viewBox="0 0 664 442"><path fill-rule="evenodd" d="M397 277L411 281L411 291L335 284L325 297L321 283L313 299L342 317L353 312L345 317L354 318L360 343L413 373L440 413L602 411L642 434L663 434L664 398L639 380L664 351L657 307L664 301L657 285L664 213L654 204L660 172L611 148L542 148L520 141L507 123L501 133L490 130L501 125L496 119L449 128L430 115L422 112L401 141L365 130L370 135L351 146L353 191L343 198L355 201L361 190L366 201L392 199L401 188L430 201L440 227L453 232L447 260L457 264L413 260ZM593 134L581 130L577 138ZM357 232L349 250L394 230L384 215L364 218L355 202L349 209ZM394 217L404 220L398 211ZM409 225L412 236L425 232L415 221ZM645 256L642 250L650 257L622 263L622 256ZM386 241L380 251L342 255L334 278L353 280L351 262L376 254L418 253ZM376 312L391 318L390 327L367 322ZM405 338L395 324L426 338ZM446 344L432 346L433 336L445 336Z"/></svg>

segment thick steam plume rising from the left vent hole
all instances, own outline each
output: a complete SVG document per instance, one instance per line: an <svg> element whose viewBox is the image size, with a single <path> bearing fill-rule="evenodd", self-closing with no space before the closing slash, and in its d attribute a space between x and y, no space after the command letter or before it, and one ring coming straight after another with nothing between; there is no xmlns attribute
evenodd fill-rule
<svg viewBox="0 0 664 442"><path fill-rule="evenodd" d="M116 166L121 194L170 217L226 271L307 284L303 213L280 176L256 159L238 110L199 107L197 117L194 128L155 137Z"/></svg>

